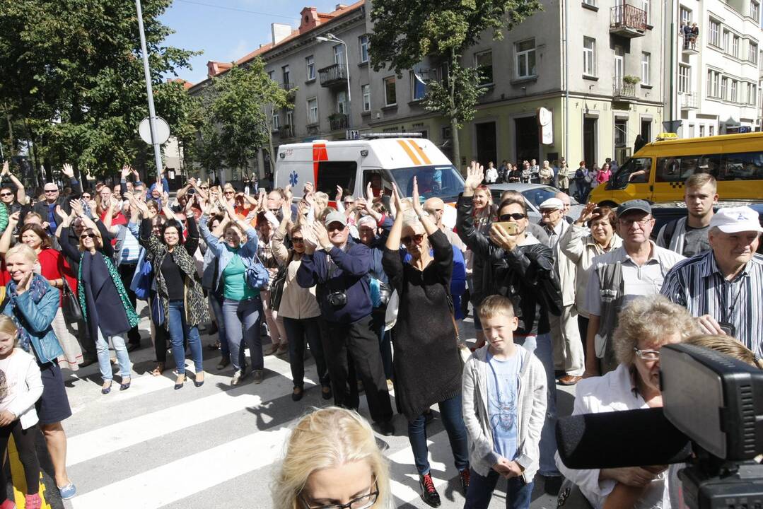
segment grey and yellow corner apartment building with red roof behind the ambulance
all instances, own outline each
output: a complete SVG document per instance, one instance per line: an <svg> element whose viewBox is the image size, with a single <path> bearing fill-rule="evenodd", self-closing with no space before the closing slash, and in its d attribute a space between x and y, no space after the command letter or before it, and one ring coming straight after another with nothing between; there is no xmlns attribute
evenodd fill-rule
<svg viewBox="0 0 763 509"><path fill-rule="evenodd" d="M504 32L503 40L484 34L465 53L462 64L484 74L485 94L475 119L459 132L457 166L471 159L487 164L561 156L573 168L580 160L622 161L636 135L652 139L662 130L663 12L653 0L601 2L543 0L543 10ZM449 121L423 108L427 82L443 79L446 64L430 56L402 76L375 72L370 11L370 0L336 5L330 13L306 7L299 27L273 24L272 40L238 61L246 65L260 56L272 79L297 89L293 109L268 111L273 150L282 143L345 139L348 130L415 131L452 154ZM209 76L228 68L210 62ZM539 136L539 108L551 112L550 139ZM259 158L260 173L265 159Z"/></svg>

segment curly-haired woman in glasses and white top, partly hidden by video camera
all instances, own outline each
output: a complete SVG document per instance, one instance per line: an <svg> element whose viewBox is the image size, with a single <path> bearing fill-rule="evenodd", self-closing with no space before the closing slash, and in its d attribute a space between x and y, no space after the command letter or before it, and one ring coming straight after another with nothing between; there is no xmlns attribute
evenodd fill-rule
<svg viewBox="0 0 763 509"><path fill-rule="evenodd" d="M662 295L632 301L620 313L614 347L620 365L604 376L578 382L572 414L661 408L659 386L660 348L681 343L698 332L686 309ZM607 498L615 493L618 507L663 507L665 467L640 466L620 469L568 469L556 456L562 474L581 489L595 509L613 507ZM623 504L625 496L633 497ZM635 496L634 496L635 495Z"/></svg>

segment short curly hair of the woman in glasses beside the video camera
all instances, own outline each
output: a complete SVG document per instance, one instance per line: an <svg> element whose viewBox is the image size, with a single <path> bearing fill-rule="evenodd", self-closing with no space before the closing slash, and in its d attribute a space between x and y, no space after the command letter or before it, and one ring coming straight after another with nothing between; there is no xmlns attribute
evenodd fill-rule
<svg viewBox="0 0 763 509"><path fill-rule="evenodd" d="M630 302L618 315L613 346L617 362L633 365L639 339L658 340L678 333L681 340L699 333L697 321L686 308L674 304L665 295L648 295Z"/></svg>

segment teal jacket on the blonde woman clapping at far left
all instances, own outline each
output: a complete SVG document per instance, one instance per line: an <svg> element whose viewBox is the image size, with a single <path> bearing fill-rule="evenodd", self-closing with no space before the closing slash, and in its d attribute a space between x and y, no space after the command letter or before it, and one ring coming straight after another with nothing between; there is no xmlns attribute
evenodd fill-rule
<svg viewBox="0 0 763 509"><path fill-rule="evenodd" d="M9 291L6 287L5 292ZM37 304L32 300L31 292L24 292L16 298L15 306L10 304L8 298L2 304L2 313L8 316L15 315L29 334L34 356L40 364L53 362L58 356L63 355L63 349L51 325L58 312L59 301L59 291L48 285Z"/></svg>

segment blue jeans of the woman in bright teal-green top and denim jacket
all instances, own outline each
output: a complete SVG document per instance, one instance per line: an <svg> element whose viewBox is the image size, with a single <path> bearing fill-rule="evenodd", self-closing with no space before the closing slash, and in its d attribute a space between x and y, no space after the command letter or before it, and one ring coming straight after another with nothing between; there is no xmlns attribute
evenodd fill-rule
<svg viewBox="0 0 763 509"><path fill-rule="evenodd" d="M244 342L249 346L252 357L252 369L264 369L262 359L262 339L259 337L259 322L262 319L262 301L259 295L246 301L223 301L225 334L230 349L230 363L237 371L242 370L244 361Z"/></svg>

